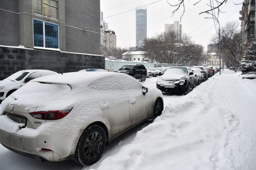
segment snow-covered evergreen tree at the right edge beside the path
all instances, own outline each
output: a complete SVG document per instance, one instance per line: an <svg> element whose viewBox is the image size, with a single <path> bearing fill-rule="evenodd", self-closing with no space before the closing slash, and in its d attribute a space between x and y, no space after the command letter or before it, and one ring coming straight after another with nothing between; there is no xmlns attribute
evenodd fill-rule
<svg viewBox="0 0 256 170"><path fill-rule="evenodd" d="M239 70L242 74L256 75L256 41L252 41L244 52L244 59L240 61Z"/></svg>

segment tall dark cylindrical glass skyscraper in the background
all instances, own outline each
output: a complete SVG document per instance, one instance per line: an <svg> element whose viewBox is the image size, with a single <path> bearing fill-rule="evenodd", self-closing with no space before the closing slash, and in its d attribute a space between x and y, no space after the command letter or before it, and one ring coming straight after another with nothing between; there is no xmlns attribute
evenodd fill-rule
<svg viewBox="0 0 256 170"><path fill-rule="evenodd" d="M141 47L147 37L147 9L136 9L136 46Z"/></svg>

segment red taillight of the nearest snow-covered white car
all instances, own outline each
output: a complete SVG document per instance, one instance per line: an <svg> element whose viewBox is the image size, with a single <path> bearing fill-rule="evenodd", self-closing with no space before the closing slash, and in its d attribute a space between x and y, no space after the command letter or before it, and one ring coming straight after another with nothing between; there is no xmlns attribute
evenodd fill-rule
<svg viewBox="0 0 256 170"><path fill-rule="evenodd" d="M73 108L72 108L73 109ZM64 118L72 109L67 110L55 110L55 111L41 111L41 112L30 112L33 118L41 120L59 120Z"/></svg>

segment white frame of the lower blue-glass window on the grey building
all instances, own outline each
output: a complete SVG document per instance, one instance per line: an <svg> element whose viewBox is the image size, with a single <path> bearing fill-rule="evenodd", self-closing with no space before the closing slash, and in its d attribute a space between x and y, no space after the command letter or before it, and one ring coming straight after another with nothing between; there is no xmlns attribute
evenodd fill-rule
<svg viewBox="0 0 256 170"><path fill-rule="evenodd" d="M41 47L41 46L35 46L35 42L34 42L34 20L39 20L39 21L42 21L42 22L43 22L43 37L44 37L44 46L43 46L43 47ZM44 21L44 20L40 20L40 19L37 19L37 18L32 18L33 47L34 47L34 49L48 49L48 50L53 50L53 51L61 51L61 50L60 50L60 29L59 29L59 25L56 24L56 23L51 23L51 24L54 24L54 25L57 25L57 26L58 26L58 49L45 47L45 45L46 45L46 44L45 44L45 22L46 22L46 23L51 23L51 22Z"/></svg>

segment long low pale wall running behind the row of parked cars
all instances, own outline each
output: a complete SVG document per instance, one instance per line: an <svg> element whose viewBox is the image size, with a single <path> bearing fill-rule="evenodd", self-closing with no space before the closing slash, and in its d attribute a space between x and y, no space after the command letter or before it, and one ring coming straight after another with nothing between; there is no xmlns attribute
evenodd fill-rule
<svg viewBox="0 0 256 170"><path fill-rule="evenodd" d="M120 69L122 66L127 64L143 64L145 67L167 67L167 66L178 66L176 64L165 64L165 63L144 63L135 61L105 61L105 68L110 69L111 72Z"/></svg>

